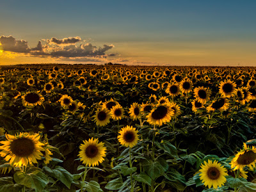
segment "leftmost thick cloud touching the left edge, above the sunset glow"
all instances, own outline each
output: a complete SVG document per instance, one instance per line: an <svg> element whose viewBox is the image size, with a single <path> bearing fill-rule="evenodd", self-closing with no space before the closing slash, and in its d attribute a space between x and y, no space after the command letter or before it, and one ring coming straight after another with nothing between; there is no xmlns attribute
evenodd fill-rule
<svg viewBox="0 0 256 192"><path fill-rule="evenodd" d="M13 36L0 36L3 51L29 52L30 48L26 40L16 40Z"/></svg>

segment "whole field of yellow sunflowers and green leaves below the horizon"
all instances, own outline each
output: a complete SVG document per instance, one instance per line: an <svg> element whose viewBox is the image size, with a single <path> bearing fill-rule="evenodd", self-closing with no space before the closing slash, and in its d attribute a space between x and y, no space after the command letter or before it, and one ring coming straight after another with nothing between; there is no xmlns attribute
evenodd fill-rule
<svg viewBox="0 0 256 192"><path fill-rule="evenodd" d="M256 68L0 69L0 191L256 191Z"/></svg>

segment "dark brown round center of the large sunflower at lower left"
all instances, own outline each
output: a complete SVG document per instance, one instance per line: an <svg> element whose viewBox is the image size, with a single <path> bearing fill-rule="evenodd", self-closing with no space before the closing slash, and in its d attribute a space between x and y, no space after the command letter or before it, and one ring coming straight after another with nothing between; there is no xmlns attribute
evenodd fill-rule
<svg viewBox="0 0 256 192"><path fill-rule="evenodd" d="M27 157L30 156L33 151L35 150L35 145L33 141L26 139L26 138L20 138L18 140L13 140L11 145L11 151L15 156L19 157Z"/></svg>

